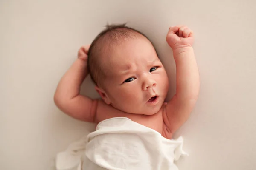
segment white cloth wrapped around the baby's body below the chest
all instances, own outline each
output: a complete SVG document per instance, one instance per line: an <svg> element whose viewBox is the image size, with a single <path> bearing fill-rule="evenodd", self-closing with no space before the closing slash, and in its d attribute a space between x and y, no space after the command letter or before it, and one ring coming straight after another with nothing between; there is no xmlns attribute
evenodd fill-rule
<svg viewBox="0 0 256 170"><path fill-rule="evenodd" d="M164 138L131 119L100 122L87 138L71 144L56 159L57 170L177 170L174 160L186 154L182 137ZM81 161L82 160L82 161Z"/></svg>

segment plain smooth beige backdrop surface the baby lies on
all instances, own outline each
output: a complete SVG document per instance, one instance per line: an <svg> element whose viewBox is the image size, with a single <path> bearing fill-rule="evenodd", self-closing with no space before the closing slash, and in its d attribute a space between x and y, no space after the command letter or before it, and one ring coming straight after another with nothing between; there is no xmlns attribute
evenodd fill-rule
<svg viewBox="0 0 256 170"><path fill-rule="evenodd" d="M49 170L55 154L93 130L64 115L53 94L80 45L108 23L153 40L175 89L169 26L195 32L198 103L176 133L190 154L180 170L256 169L256 1L1 0L0 170ZM89 80L83 93L97 96Z"/></svg>

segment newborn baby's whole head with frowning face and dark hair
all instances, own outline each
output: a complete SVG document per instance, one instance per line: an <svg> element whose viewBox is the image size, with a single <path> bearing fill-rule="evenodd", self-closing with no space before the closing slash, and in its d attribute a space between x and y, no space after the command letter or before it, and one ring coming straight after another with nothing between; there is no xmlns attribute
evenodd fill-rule
<svg viewBox="0 0 256 170"><path fill-rule="evenodd" d="M104 102L127 113L157 113L168 92L168 77L154 46L125 24L107 26L93 40L88 69Z"/></svg>

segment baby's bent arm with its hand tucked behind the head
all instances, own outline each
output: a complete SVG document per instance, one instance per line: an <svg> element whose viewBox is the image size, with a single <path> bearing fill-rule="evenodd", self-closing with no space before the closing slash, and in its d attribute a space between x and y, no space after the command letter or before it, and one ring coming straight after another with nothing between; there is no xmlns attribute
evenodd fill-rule
<svg viewBox="0 0 256 170"><path fill-rule="evenodd" d="M80 86L87 76L87 52L89 46L79 49L78 59L58 83L54 102L61 111L73 118L94 122L97 101L79 94Z"/></svg>

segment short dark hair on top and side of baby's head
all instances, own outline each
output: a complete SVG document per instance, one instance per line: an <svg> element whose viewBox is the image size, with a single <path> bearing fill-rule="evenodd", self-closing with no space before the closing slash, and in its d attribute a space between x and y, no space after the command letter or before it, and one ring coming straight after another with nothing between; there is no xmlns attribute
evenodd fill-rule
<svg viewBox="0 0 256 170"><path fill-rule="evenodd" d="M111 49L113 45L119 42L134 39L138 37L138 34L146 37L140 31L125 25L126 23L106 25L106 28L100 32L91 43L88 51L88 71L95 85L101 85L102 78L105 77L105 73L102 70L103 66L100 62L100 56L104 55L106 50ZM146 38L148 39L148 37Z"/></svg>

